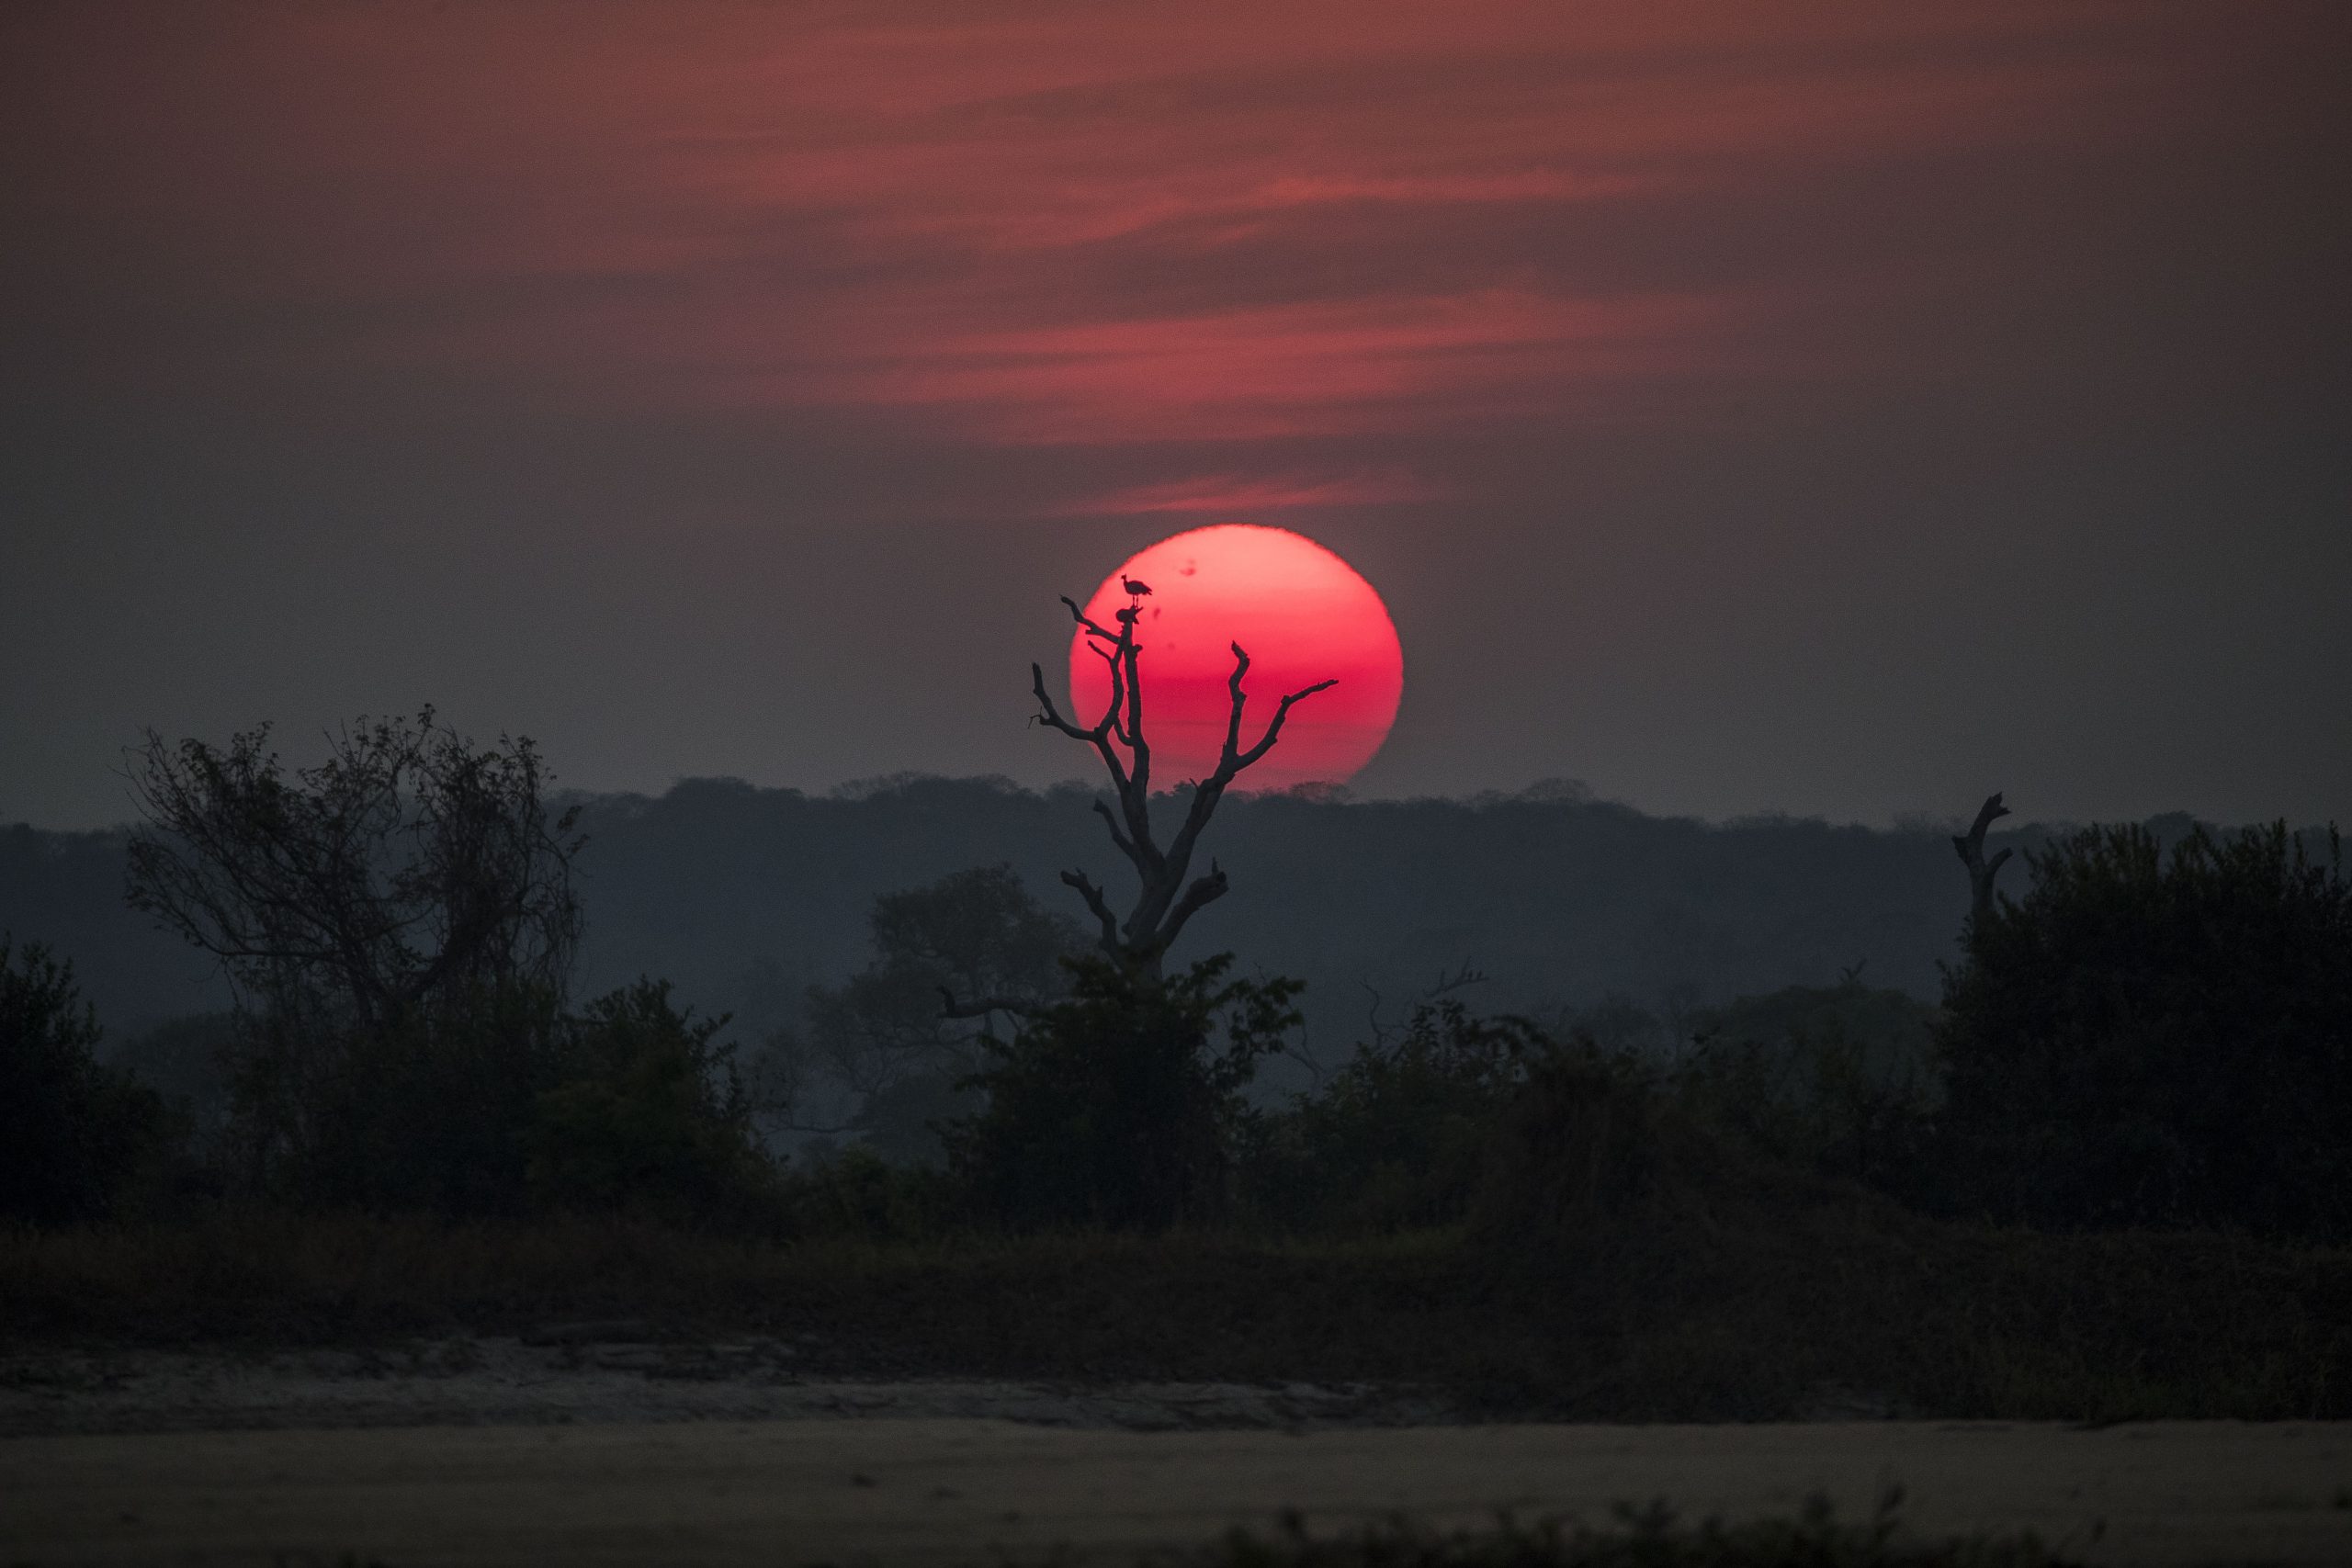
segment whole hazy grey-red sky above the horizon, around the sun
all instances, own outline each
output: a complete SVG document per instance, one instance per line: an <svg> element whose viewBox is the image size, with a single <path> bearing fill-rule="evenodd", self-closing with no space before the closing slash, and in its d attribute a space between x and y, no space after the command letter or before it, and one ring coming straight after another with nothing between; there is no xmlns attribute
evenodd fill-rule
<svg viewBox="0 0 2352 1568"><path fill-rule="evenodd" d="M1056 595L1242 520L1359 792L2352 823L2347 280L2340 0L14 0L0 820L1080 776Z"/></svg>

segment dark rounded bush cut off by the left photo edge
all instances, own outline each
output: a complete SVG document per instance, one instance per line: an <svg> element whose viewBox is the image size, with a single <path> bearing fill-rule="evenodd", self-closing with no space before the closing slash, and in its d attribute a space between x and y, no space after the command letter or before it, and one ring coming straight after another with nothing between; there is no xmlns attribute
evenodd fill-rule
<svg viewBox="0 0 2352 1568"><path fill-rule="evenodd" d="M165 1128L162 1100L92 1058L73 966L0 936L0 1218L111 1213Z"/></svg>

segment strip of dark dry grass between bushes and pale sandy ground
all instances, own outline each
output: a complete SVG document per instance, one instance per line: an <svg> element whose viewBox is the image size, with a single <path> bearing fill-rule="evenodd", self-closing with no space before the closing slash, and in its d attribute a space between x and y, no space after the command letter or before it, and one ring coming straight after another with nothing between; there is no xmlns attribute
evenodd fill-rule
<svg viewBox="0 0 2352 1568"><path fill-rule="evenodd" d="M1468 1229L779 1244L619 1218L259 1211L0 1237L14 1342L579 1319L793 1338L840 1375L1383 1382L1496 1415L2352 1415L2352 1251L1990 1229L1867 1199L1595 1220L1519 1251Z"/></svg>

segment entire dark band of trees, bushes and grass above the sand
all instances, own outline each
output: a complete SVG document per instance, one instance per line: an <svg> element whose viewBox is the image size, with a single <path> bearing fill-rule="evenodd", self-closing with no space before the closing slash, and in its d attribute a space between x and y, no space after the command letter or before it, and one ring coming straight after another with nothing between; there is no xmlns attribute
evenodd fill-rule
<svg viewBox="0 0 2352 1568"><path fill-rule="evenodd" d="M1110 771L1134 910L1070 872L1087 929L1002 865L891 893L868 964L741 1053L663 980L574 999L576 820L529 743L430 712L299 771L263 733L151 743L129 896L233 1006L99 1065L71 971L0 952L0 1204L28 1225L0 1321L626 1314L863 1373L1609 1418L2352 1413L2333 842L2084 830L2027 846L2011 898L1987 802L1943 1009L1856 966L1531 1018L1461 969L1334 1063L1296 980L1167 957L1240 886L1190 858L1275 729L1242 745L1237 672L1230 766L1162 849L1129 628L1091 628L1105 717L1051 726Z"/></svg>

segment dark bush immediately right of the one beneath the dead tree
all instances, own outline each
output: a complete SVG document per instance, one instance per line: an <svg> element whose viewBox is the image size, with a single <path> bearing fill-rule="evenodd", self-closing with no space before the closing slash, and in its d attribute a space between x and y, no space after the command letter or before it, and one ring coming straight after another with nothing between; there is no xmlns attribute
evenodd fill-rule
<svg viewBox="0 0 2352 1568"><path fill-rule="evenodd" d="M1463 1218L1529 1060L1548 1048L1524 1018L1416 1006L1399 1039L1357 1046L1319 1091L1249 1119L1251 1213L1343 1234Z"/></svg>

